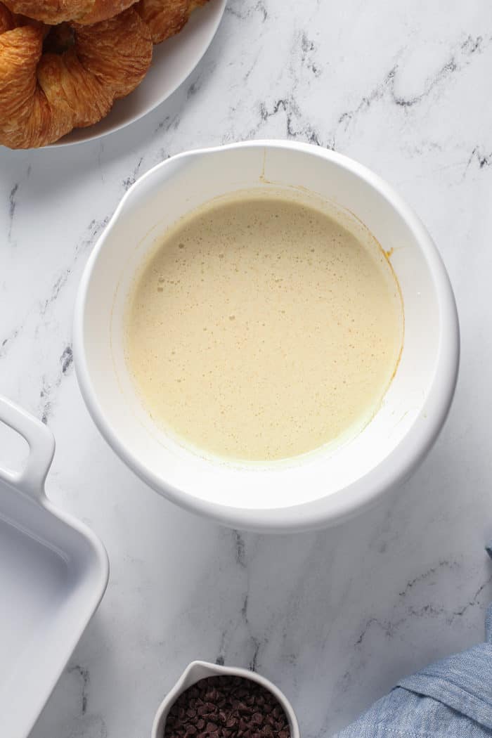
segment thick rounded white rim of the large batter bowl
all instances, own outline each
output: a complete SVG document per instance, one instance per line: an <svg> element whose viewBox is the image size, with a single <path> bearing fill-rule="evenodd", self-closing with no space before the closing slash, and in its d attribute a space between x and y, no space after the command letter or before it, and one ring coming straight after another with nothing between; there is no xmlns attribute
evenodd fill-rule
<svg viewBox="0 0 492 738"><path fill-rule="evenodd" d="M415 241L426 257L429 273L436 294L440 311L441 330L436 369L429 393L420 414L401 441L380 463L370 469L365 475L358 477L353 483L333 492L325 497L319 497L306 503L288 506L285 508L240 508L201 500L185 490L178 489L167 483L162 477L154 474L139 461L131 449L128 449L113 432L105 418L97 399L97 393L91 382L87 365L84 335L84 317L86 300L91 283L91 277L97 266L97 258L105 247L106 238L114 227L122 210L127 207L128 201L134 196L136 189L151 179L154 174L177 159L207 156L207 154L226 153L237 148L283 149L286 152L298 151L311 156L318 156L341 166L386 200L398 215L406 222L412 231ZM101 435L108 442L114 452L119 455L145 483L168 500L195 514L201 514L218 521L231 528L241 528L257 532L293 532L328 528L353 517L365 508L378 503L385 494L388 494L398 483L405 480L415 467L423 461L431 449L437 435L448 415L454 388L457 382L457 373L460 359L460 327L458 323L457 307L451 283L446 268L440 257L437 247L432 241L429 232L423 226L413 210L401 199L384 179L373 173L364 165L329 149L320 148L312 144L291 140L261 139L255 141L237 142L228 145L200 148L176 154L154 166L128 189L122 197L105 230L100 235L94 249L86 263L75 304L73 327L74 361L77 381L89 413ZM425 423L419 423L425 419Z"/></svg>

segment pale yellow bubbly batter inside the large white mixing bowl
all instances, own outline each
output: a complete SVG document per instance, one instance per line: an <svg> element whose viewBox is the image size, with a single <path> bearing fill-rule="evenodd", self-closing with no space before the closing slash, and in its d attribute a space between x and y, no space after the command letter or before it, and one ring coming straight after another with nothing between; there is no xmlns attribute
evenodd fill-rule
<svg viewBox="0 0 492 738"><path fill-rule="evenodd" d="M128 366L154 421L247 460L360 430L403 339L395 276L364 241L322 210L254 190L181 220L126 315Z"/></svg>

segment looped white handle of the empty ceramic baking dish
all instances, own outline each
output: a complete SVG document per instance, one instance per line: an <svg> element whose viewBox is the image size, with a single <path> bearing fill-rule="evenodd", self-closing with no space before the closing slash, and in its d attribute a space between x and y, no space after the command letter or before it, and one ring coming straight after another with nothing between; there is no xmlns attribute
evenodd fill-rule
<svg viewBox="0 0 492 738"><path fill-rule="evenodd" d="M0 397L0 421L18 432L29 444L29 456L21 472L1 469L4 480L35 500L44 496L44 480L55 453L55 438L46 426L10 400Z"/></svg>

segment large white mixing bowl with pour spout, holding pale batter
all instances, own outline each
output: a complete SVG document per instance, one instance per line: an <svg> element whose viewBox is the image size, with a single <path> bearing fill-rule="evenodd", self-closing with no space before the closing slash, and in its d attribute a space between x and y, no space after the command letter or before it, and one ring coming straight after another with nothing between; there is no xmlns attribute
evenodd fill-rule
<svg viewBox="0 0 492 738"><path fill-rule="evenodd" d="M288 461L226 463L194 453L153 423L125 363L123 313L136 269L170 224L215 196L272 183L305 188L350 211L392 253L403 297L403 351L380 409L352 441ZM280 532L338 523L415 469L451 404L459 328L437 249L388 184L332 151L254 141L173 156L128 190L86 266L74 344L89 412L139 477L226 525Z"/></svg>

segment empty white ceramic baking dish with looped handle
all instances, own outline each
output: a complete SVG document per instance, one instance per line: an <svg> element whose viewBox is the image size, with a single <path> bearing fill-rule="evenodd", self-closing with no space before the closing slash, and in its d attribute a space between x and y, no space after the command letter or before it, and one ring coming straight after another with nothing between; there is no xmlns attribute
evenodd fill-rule
<svg viewBox="0 0 492 738"><path fill-rule="evenodd" d="M0 736L26 738L103 597L108 556L44 494L48 428L3 398L0 421L30 447L20 472L0 468Z"/></svg>

